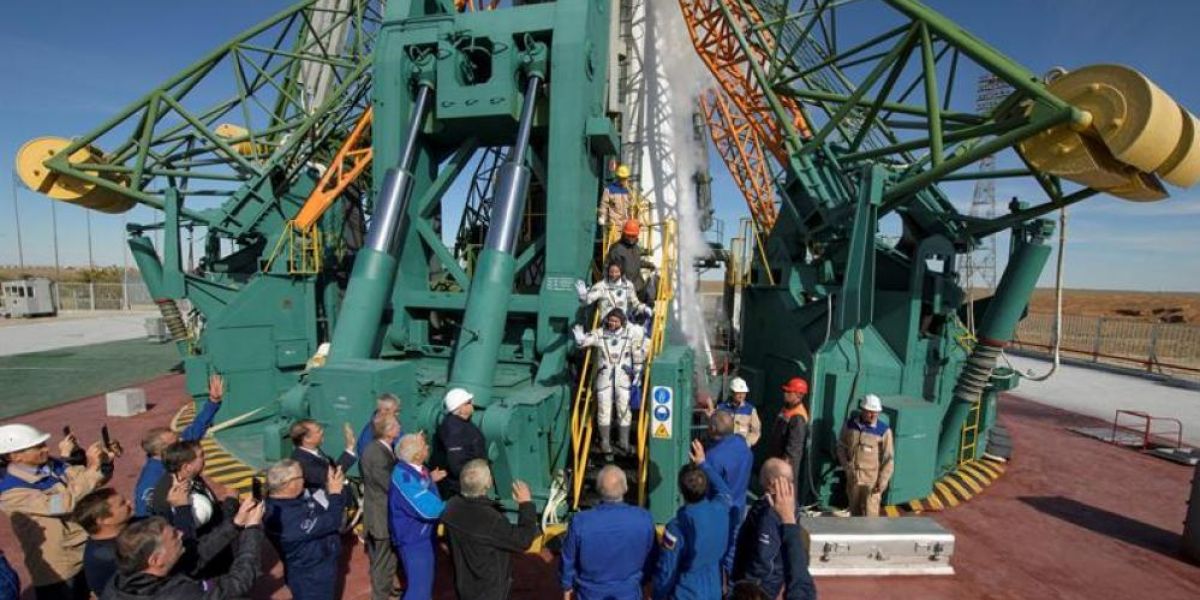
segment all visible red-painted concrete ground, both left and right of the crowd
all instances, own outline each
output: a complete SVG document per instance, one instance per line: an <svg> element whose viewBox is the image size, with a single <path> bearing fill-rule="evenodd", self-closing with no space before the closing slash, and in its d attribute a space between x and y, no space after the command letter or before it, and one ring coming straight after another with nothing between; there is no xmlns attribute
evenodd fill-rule
<svg viewBox="0 0 1200 600"><path fill-rule="evenodd" d="M152 404L149 413L107 421L130 449L113 480L126 493L140 468L140 432L167 424L187 400L179 376L143 386ZM1018 397L1002 401L1001 415L1015 445L1008 472L970 503L935 515L958 536L958 575L822 577L822 599L1200 598L1200 566L1176 552L1190 468L1067 432L1066 426L1097 421ZM71 424L91 440L106 421L104 402L86 398L16 421L54 433ZM0 547L28 584L7 520L0 520ZM347 539L343 564L343 598L370 598L366 552L353 538ZM264 568L268 574L253 598L290 598L270 551ZM512 598L556 596L554 557L521 557L514 580ZM439 556L436 596L454 598L445 553ZM31 598L29 590L25 598Z"/></svg>

